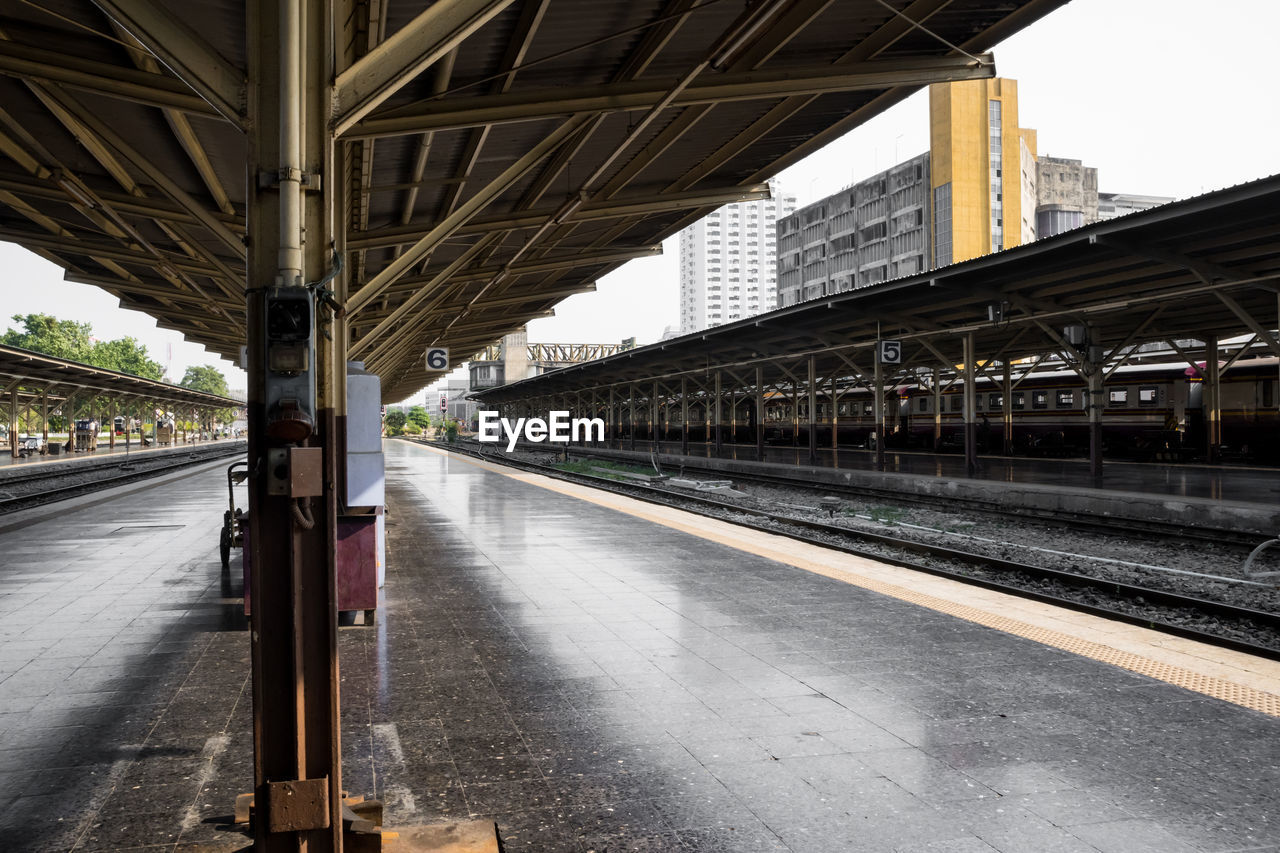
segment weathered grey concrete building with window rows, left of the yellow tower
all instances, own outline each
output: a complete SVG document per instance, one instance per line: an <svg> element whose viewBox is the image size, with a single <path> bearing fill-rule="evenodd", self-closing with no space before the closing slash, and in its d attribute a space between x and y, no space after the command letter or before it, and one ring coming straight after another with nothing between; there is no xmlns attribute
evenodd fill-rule
<svg viewBox="0 0 1280 853"><path fill-rule="evenodd" d="M778 307L932 266L928 154L778 220Z"/></svg>

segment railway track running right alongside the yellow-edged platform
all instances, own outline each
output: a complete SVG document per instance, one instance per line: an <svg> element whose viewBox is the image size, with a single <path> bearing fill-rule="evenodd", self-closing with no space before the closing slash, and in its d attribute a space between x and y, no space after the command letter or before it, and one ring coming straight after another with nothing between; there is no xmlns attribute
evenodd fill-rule
<svg viewBox="0 0 1280 853"><path fill-rule="evenodd" d="M796 519L643 483L623 483L605 476L567 473L536 462L513 460L504 455L480 453L448 444L439 444L439 447L498 465L603 488L650 503L673 506L905 569L951 578L1106 619L1153 628L1260 657L1280 660L1280 613L1001 560L937 544L910 542L867 530L852 530L836 524ZM685 469L686 473L689 470L689 467ZM735 480L751 482L751 478L735 475ZM795 482L787 484L795 485ZM1116 528L1108 526L1106 530L1115 533ZM1256 639L1258 637L1265 639L1260 642Z"/></svg>

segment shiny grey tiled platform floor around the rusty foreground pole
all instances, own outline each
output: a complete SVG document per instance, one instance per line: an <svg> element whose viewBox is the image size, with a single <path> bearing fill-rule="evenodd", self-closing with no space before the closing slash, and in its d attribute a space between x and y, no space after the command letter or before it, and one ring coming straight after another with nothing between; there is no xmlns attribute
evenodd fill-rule
<svg viewBox="0 0 1280 853"><path fill-rule="evenodd" d="M238 849L223 465L0 532L6 850ZM407 442L343 783L508 850L1280 849L1280 665ZM168 507L163 521L151 514Z"/></svg>

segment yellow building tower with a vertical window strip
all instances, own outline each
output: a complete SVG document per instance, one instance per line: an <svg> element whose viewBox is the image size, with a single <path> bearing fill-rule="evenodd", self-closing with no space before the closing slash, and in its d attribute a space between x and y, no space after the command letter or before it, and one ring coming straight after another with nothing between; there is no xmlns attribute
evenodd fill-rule
<svg viewBox="0 0 1280 853"><path fill-rule="evenodd" d="M1036 131L1018 127L1018 81L929 87L933 263L1036 238Z"/></svg>

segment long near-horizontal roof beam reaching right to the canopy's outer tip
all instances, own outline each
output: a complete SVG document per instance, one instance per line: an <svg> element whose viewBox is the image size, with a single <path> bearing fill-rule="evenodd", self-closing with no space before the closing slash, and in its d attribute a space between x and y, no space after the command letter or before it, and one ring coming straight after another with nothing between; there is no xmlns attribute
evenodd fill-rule
<svg viewBox="0 0 1280 853"><path fill-rule="evenodd" d="M708 77L669 99L668 106L748 101L792 95L827 95L895 86L927 86L960 79L987 79L996 76L989 54L978 63L968 56L874 60L855 65L810 65L785 70L753 70ZM415 104L375 115L352 126L347 138L402 136L428 131L456 131L468 127L531 122L570 113L617 113L652 109L663 102L680 81L637 79L608 86L577 86L511 95L449 99Z"/></svg>

